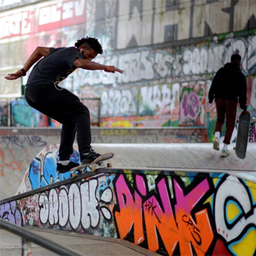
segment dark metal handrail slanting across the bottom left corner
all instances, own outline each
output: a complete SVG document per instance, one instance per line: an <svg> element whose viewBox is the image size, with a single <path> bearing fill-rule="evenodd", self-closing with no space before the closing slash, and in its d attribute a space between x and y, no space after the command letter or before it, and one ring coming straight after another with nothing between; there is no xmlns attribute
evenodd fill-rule
<svg viewBox="0 0 256 256"><path fill-rule="evenodd" d="M72 249L69 249L66 246L57 244L47 238L36 235L28 229L23 227L19 227L15 224L12 224L6 220L0 218L0 228L4 228L5 230L12 232L15 235L18 235L22 239L22 252L21 255L32 255L31 253L31 242L38 244L39 246L44 247L52 252L55 252L59 255L79 255L83 256L84 254L80 254Z"/></svg>

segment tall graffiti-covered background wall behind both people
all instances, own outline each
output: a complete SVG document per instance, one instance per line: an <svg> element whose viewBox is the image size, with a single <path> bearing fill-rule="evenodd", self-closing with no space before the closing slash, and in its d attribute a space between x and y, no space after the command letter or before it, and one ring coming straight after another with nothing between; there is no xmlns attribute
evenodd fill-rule
<svg viewBox="0 0 256 256"><path fill-rule="evenodd" d="M37 45L71 46L89 35L104 48L96 61L116 65L124 74L79 70L62 86L82 98L100 98L100 105L84 103L94 121L100 113L101 126L200 125L212 136L216 111L214 103L207 103L207 93L233 52L242 56L248 110L255 116L254 0L57 0L15 7L0 10L3 95L20 96L20 81L6 86L3 75L23 67ZM10 58L16 54L19 58ZM13 125L44 125L38 113L27 111L26 119L26 107L16 104ZM0 105L5 109L6 104ZM5 120L4 111L1 115Z"/></svg>

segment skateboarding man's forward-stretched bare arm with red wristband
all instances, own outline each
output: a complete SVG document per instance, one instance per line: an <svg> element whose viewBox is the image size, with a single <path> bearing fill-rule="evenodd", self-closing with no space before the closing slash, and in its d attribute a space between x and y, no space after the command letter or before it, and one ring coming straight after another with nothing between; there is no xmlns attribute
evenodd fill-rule
<svg viewBox="0 0 256 256"><path fill-rule="evenodd" d="M84 59L79 59L77 58L74 61L74 65L77 68L83 68L83 69L88 69L88 70L105 70L106 72L112 72L115 73L116 71L123 74L124 71L116 68L115 66L106 66L106 65L102 65L100 63L91 61L91 60L84 60Z"/></svg>

